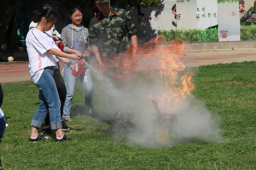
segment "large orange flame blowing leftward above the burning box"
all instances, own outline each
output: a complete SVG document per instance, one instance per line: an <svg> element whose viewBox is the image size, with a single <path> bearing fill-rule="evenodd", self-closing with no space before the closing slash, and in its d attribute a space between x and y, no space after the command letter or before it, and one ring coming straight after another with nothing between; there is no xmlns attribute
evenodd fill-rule
<svg viewBox="0 0 256 170"><path fill-rule="evenodd" d="M137 55L132 55L128 50L118 57L103 59L106 61L104 64L109 68L107 71L109 76L120 82L130 82L132 77L141 76L141 73L153 78L160 75L160 78L164 79L166 92L158 96L158 106L163 113L167 114L170 110L175 110L177 104L185 100L195 86L191 83L194 76L192 70L191 73L185 72L182 76L180 75L185 70L186 42L178 38L171 43L163 40L162 36L158 36L139 44ZM154 73L153 70L158 70L158 73ZM150 98L153 99L153 94Z"/></svg>

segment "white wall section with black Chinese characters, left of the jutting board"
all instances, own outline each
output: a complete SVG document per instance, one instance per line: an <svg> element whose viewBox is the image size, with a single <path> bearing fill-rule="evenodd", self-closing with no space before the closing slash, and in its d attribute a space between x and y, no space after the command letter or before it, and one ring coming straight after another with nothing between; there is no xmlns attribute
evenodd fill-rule
<svg viewBox="0 0 256 170"><path fill-rule="evenodd" d="M163 4L158 29L205 29L218 25L217 0L164 0Z"/></svg>

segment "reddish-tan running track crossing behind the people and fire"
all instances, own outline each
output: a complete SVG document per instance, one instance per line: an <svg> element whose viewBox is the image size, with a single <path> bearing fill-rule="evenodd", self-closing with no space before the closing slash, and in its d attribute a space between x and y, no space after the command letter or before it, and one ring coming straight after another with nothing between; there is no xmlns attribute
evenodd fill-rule
<svg viewBox="0 0 256 170"><path fill-rule="evenodd" d="M254 61L256 49L239 50L211 50L211 51L188 51L186 66L211 65L218 63L233 63L243 61ZM92 66L97 67L95 59L90 61ZM60 62L61 69L63 63ZM0 63L0 82L30 81L28 62L6 62Z"/></svg>

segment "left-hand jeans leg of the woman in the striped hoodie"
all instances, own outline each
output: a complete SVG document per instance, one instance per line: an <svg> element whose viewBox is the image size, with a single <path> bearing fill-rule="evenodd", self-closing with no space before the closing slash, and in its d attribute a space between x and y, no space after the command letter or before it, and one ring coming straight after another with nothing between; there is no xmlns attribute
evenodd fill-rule
<svg viewBox="0 0 256 170"><path fill-rule="evenodd" d="M72 73L71 69L69 68L64 69L64 82L67 89L67 96L66 96L64 107L63 107L62 117L70 116L72 100L75 94L76 77L73 76L71 73Z"/></svg>

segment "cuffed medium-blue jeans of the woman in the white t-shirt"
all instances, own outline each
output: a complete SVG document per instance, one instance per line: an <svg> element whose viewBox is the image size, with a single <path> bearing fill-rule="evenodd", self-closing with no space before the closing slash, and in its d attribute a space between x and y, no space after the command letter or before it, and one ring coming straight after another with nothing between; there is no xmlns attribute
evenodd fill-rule
<svg viewBox="0 0 256 170"><path fill-rule="evenodd" d="M40 104L32 118L31 125L38 128L43 127L47 111L50 114L51 129L62 128L60 118L60 98L52 75L53 67L46 67L36 83L36 86L39 88Z"/></svg>

